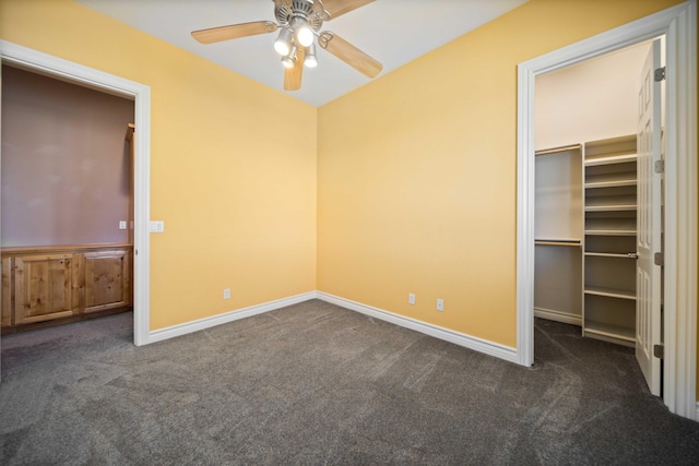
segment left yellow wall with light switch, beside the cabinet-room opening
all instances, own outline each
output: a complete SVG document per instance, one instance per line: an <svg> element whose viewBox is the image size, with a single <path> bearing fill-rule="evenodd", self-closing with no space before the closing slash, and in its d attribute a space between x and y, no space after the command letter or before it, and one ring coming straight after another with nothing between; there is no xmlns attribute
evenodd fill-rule
<svg viewBox="0 0 699 466"><path fill-rule="evenodd" d="M151 86L152 330L316 289L313 107L69 0L0 38Z"/></svg>

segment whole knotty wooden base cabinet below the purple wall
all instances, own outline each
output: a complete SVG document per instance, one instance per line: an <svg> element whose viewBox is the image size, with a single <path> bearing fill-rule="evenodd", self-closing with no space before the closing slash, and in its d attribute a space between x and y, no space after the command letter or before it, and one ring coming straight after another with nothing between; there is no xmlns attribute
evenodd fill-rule
<svg viewBox="0 0 699 466"><path fill-rule="evenodd" d="M129 244L2 249L2 327L128 309Z"/></svg>

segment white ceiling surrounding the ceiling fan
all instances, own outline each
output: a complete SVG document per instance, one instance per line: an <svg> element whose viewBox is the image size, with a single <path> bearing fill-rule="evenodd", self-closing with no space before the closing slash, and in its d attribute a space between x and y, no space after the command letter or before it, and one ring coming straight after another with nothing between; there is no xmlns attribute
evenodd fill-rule
<svg viewBox="0 0 699 466"><path fill-rule="evenodd" d="M202 45L197 29L274 21L272 0L76 0L93 10L319 107L369 81L318 49L300 91L283 89L284 69L273 49L276 33ZM381 75L505 14L528 0L377 0L332 21L332 31L383 63ZM377 77L377 79L378 79Z"/></svg>

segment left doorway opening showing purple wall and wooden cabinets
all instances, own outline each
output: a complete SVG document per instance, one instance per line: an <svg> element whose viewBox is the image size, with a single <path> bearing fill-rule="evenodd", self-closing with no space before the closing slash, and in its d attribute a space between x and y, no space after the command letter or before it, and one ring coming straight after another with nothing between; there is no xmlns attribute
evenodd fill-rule
<svg viewBox="0 0 699 466"><path fill-rule="evenodd" d="M129 310L133 101L5 63L2 117L2 332Z"/></svg>

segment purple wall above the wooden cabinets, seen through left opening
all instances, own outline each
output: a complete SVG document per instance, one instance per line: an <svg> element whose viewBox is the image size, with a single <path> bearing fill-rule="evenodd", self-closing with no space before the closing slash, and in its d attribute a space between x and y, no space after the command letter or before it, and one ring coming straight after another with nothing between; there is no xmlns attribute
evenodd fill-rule
<svg viewBox="0 0 699 466"><path fill-rule="evenodd" d="M2 67L3 247L127 242L133 101Z"/></svg>

